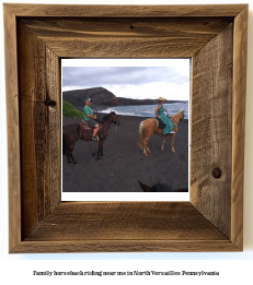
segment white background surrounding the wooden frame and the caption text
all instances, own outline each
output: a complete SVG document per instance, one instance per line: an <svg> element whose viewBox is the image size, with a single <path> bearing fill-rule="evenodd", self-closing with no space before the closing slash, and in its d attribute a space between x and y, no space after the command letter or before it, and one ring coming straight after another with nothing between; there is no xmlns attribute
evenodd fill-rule
<svg viewBox="0 0 253 285"><path fill-rule="evenodd" d="M243 0L223 1L182 1L182 0L157 0L157 1L120 1L120 4L221 4L221 3L249 3L249 33L248 33L248 95L246 95L246 138L245 138L245 164L244 164L244 251L234 253L202 252L202 253L62 253L62 254L9 254L8 253L8 163L7 163L7 114L5 114L5 90L4 90L4 52L3 52L3 25L2 25L2 0L0 7L0 281L8 278L4 284L55 284L56 282L76 284L122 284L135 281L135 283L159 282L170 284L171 282L187 282L188 284L212 284L214 282L230 282L235 284L252 284L253 265L253 132L252 132L252 107L253 107L253 2ZM37 1L9 1L19 3L39 3ZM69 3L69 4L118 4L119 1L48 1L43 3ZM11 115L8 115L11 116ZM33 276L33 271L143 271L143 270L179 270L179 271L219 271L219 276L188 276L188 277L154 277L154 276Z"/></svg>

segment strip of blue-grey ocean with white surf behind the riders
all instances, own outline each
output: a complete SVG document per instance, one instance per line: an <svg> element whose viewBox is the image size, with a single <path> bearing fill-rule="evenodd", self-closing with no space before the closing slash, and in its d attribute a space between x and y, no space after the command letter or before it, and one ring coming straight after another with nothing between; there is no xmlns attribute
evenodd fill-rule
<svg viewBox="0 0 253 285"><path fill-rule="evenodd" d="M134 106L117 106L110 107L102 110L101 112L110 112L111 110L115 111L117 115L125 116L138 116L138 117L156 117L154 110L158 105L134 105ZM166 108L166 111L170 116L175 115L179 109L185 110L184 118L188 119L188 102L179 102L171 104L163 104L163 107Z"/></svg>

